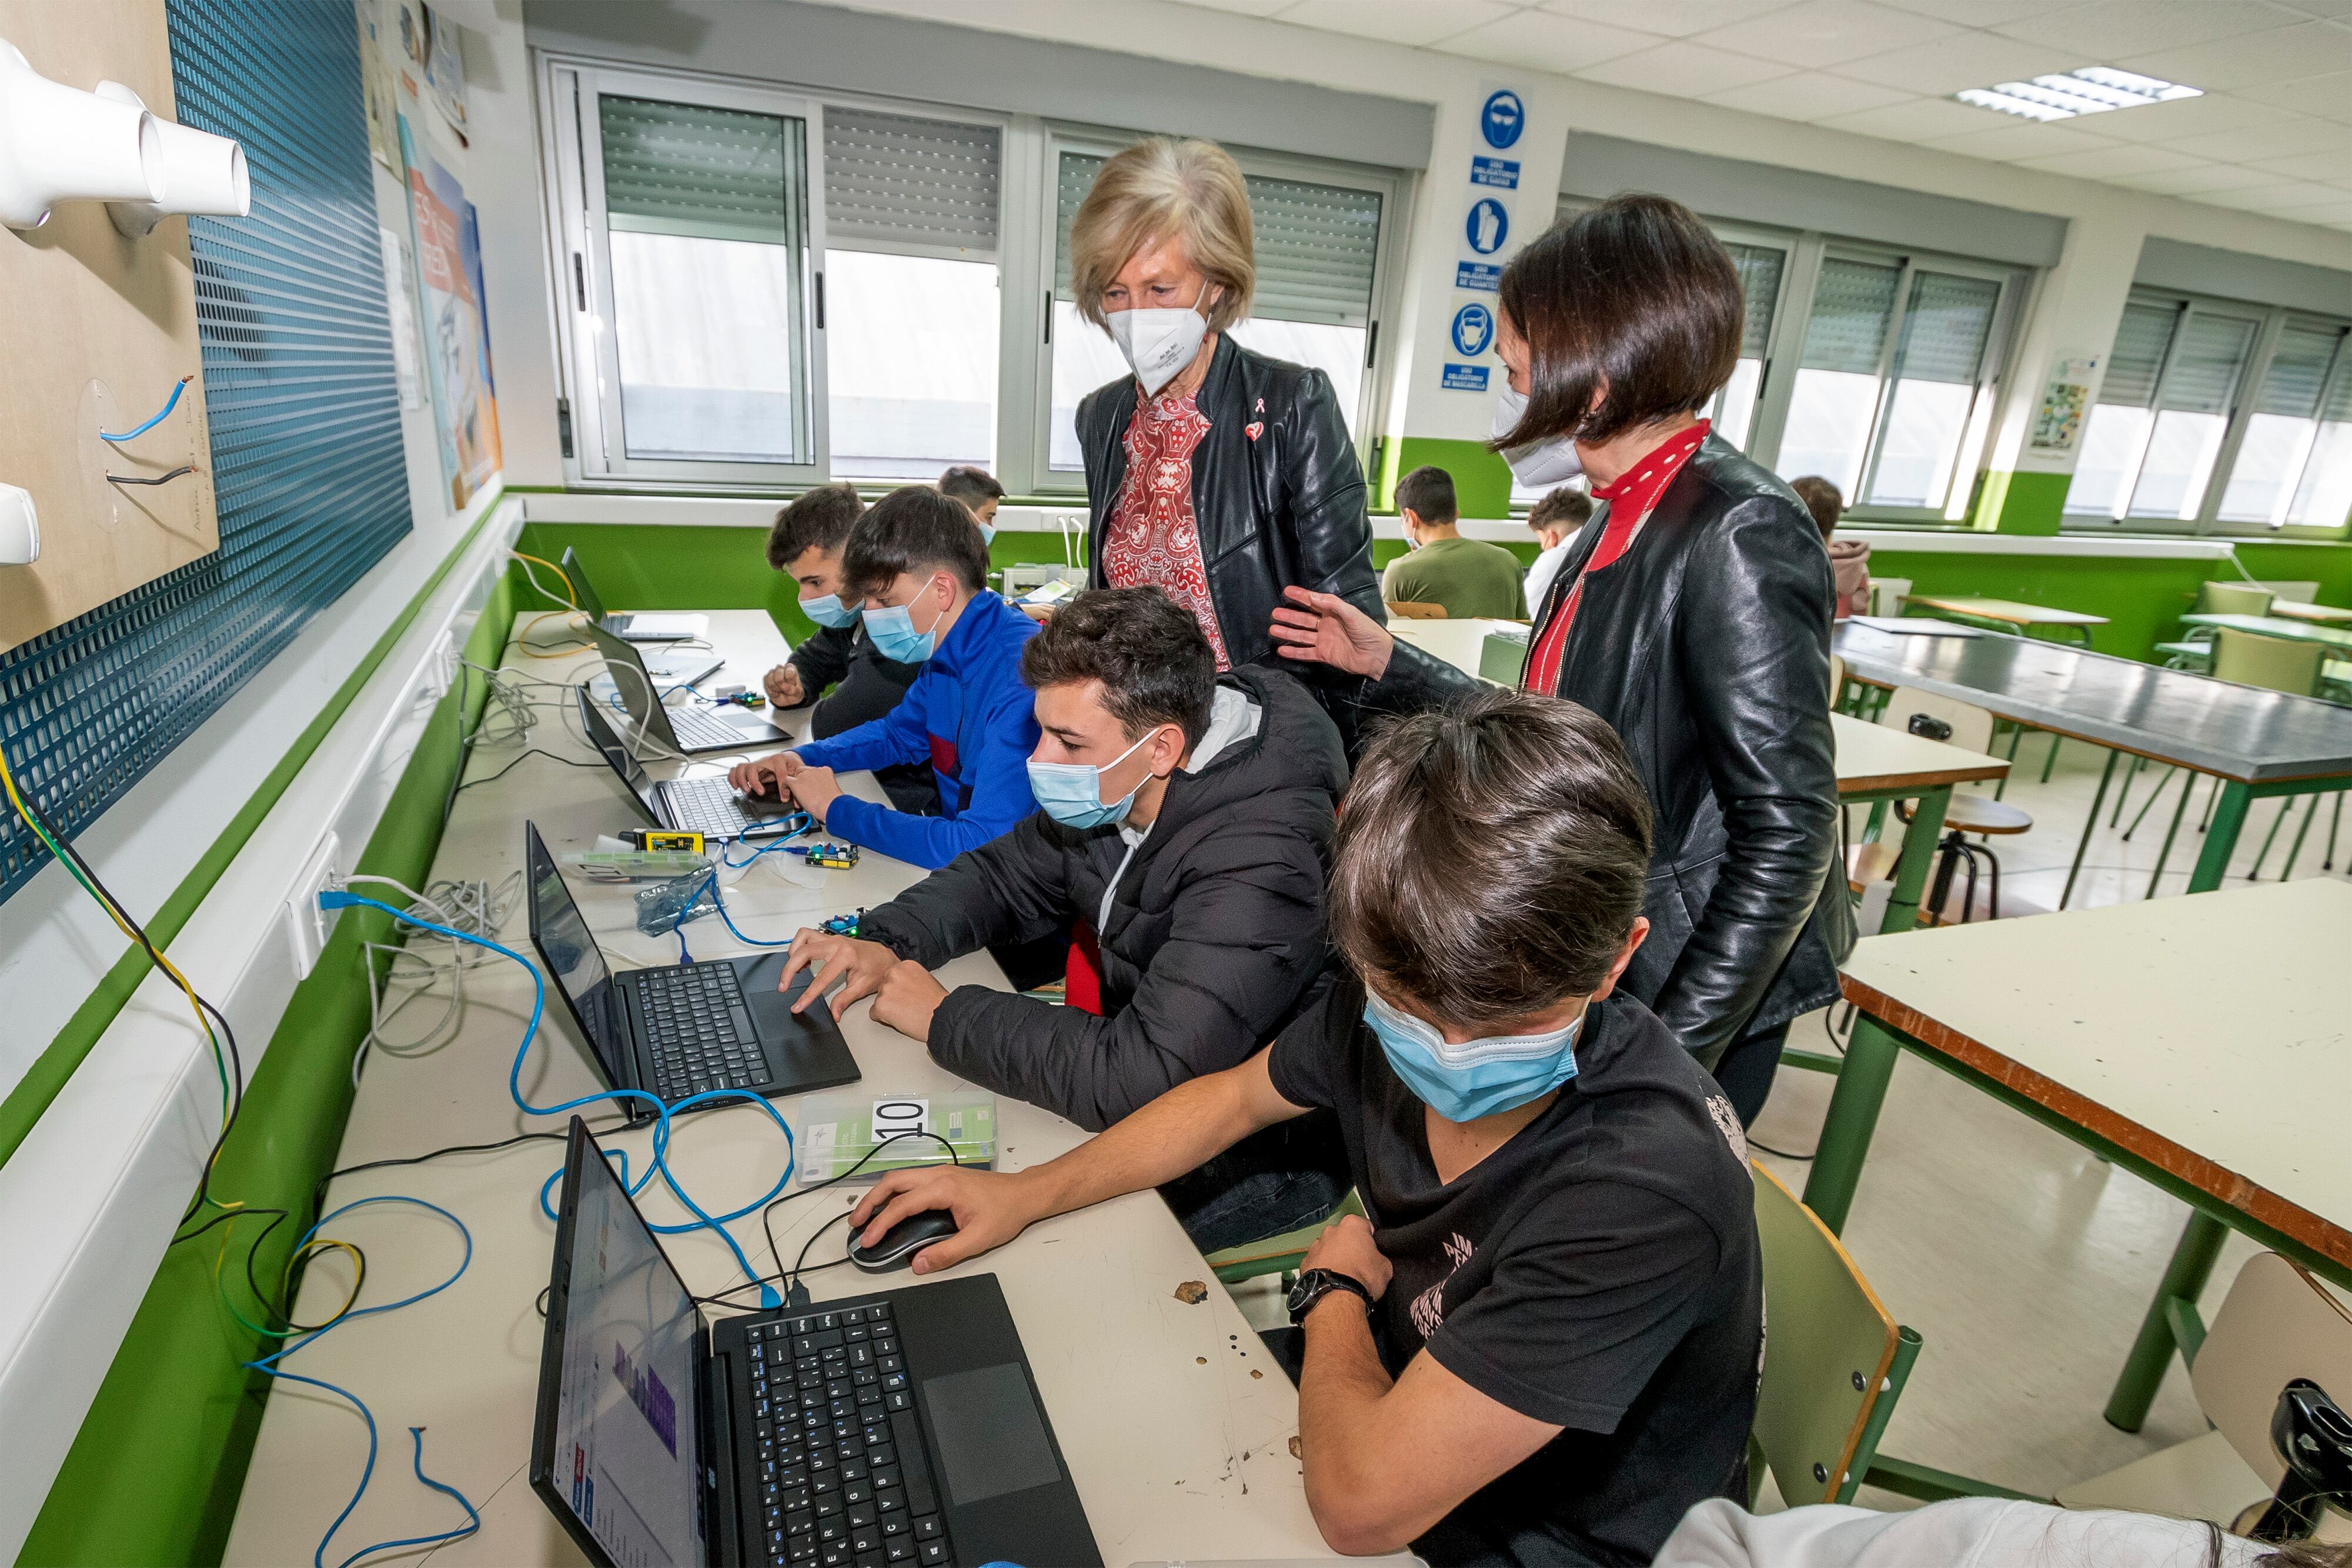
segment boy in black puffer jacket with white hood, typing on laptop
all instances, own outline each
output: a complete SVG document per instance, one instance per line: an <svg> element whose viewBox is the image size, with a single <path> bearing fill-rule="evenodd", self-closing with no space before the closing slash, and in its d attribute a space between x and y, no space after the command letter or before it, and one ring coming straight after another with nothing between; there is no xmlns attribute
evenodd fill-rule
<svg viewBox="0 0 2352 1568"><path fill-rule="evenodd" d="M835 980L875 1023L997 1093L1101 1131L1282 1032L1324 971L1324 875L1348 788L1338 729L1279 670L1216 672L1157 588L1070 599L1021 654L1037 691L1040 802L917 882L858 936L802 931L786 978ZM929 971L1075 929L1068 1006ZM807 1006L807 1001L802 1001ZM1162 1197L1204 1253L1331 1213L1348 1182L1329 1117L1268 1128Z"/></svg>

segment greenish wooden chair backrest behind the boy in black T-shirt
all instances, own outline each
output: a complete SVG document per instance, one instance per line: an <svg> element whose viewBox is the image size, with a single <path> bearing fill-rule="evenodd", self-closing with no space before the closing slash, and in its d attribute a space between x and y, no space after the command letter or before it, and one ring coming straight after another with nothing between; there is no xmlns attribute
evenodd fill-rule
<svg viewBox="0 0 2352 1568"><path fill-rule="evenodd" d="M1780 1178L1755 1166L1764 1248L1764 1385L1748 1439L1748 1505L1851 1502L1903 1396L1919 1335L1896 1324L1853 1255Z"/></svg>

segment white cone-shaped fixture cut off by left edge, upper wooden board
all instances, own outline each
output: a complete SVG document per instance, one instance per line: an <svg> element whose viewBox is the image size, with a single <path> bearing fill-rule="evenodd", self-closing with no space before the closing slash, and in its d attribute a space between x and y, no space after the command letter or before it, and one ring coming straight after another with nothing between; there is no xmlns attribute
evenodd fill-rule
<svg viewBox="0 0 2352 1568"><path fill-rule="evenodd" d="M160 202L162 195L155 115L52 82L0 40L0 223L40 228L56 202Z"/></svg>

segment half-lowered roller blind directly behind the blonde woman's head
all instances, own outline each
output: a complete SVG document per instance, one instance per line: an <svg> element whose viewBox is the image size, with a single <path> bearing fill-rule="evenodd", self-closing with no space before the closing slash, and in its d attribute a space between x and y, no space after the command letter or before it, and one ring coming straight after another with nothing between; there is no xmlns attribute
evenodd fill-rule
<svg viewBox="0 0 2352 1568"><path fill-rule="evenodd" d="M1054 181L1054 299L1070 296L1070 219L1103 167L1063 153ZM1270 322L1371 322L1371 275L1381 254L1381 195L1352 186L1244 176L1258 247L1258 289L1249 313Z"/></svg>

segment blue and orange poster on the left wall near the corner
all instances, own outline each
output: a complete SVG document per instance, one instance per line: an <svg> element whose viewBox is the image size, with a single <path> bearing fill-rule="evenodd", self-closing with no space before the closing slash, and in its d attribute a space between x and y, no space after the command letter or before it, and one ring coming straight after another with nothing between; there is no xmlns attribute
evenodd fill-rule
<svg viewBox="0 0 2352 1568"><path fill-rule="evenodd" d="M400 158L409 172L433 428L440 435L449 505L463 508L499 473L499 400L489 376L489 320L482 315L480 226L466 188L428 146L419 146L407 115L400 118Z"/></svg>

